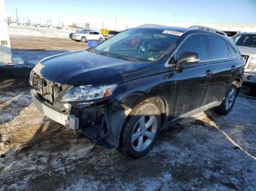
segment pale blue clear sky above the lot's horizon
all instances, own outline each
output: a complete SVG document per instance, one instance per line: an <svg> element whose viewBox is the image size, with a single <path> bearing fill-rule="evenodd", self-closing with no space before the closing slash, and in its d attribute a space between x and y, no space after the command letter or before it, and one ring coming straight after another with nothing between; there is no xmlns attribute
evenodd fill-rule
<svg viewBox="0 0 256 191"><path fill-rule="evenodd" d="M5 0L7 15L24 22L61 21L117 29L145 23L256 23L256 0Z"/></svg>

